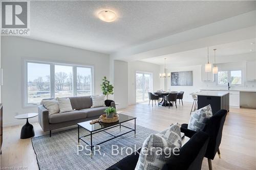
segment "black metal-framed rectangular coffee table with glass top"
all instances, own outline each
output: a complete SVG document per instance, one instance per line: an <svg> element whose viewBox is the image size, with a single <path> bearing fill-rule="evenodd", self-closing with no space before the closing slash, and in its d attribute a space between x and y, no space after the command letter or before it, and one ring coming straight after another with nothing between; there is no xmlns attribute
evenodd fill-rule
<svg viewBox="0 0 256 170"><path fill-rule="evenodd" d="M118 115L119 115L119 120L118 120L118 122L115 122L115 123L96 123L96 124L92 124L91 125L90 124L91 120L89 120L87 122L82 122L82 123L78 123L77 124L78 125L78 143L79 143L79 140L82 140L86 144L90 145L90 147L91 147L91 157L92 157L92 153L93 153L93 148L96 145L102 144L104 142L107 142L109 140L115 139L115 138L117 138L119 136L122 136L124 134L130 133L130 132L133 132L133 131L134 131L134 137L136 137L136 117L125 115L125 114L122 114L122 113L120 113ZM134 120L134 129L122 125L122 123L128 122L130 120ZM115 128L115 127L118 127L118 126L120 128L120 132L121 132L121 127L130 129L130 131L127 131L127 132L122 133L120 135L113 135L113 134L105 131L105 130L112 129L112 128ZM86 129L87 131L89 131L90 134L89 135L85 135L85 136L79 136L79 128L80 127L83 128L83 129ZM96 134L96 133L99 133L99 132L107 133L107 134L109 134L109 135L111 135L113 137L93 145L93 138L92 138L93 134ZM83 139L83 138L85 138L87 136L91 136L91 142L90 143L88 143L86 140Z"/></svg>

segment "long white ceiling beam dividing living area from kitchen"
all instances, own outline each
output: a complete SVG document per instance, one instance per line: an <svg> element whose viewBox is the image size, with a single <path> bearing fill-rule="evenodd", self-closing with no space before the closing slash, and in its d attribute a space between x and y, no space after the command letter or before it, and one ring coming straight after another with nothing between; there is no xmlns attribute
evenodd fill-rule
<svg viewBox="0 0 256 170"><path fill-rule="evenodd" d="M113 59L135 61L229 43L255 37L256 11L234 16L196 29L144 44L123 48Z"/></svg>

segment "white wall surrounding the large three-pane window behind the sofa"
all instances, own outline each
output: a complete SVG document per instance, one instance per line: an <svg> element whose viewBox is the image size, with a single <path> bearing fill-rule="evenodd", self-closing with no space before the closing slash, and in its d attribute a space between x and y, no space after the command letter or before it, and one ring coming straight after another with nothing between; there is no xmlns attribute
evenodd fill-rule
<svg viewBox="0 0 256 170"><path fill-rule="evenodd" d="M22 106L23 58L93 65L94 94L102 93L101 79L103 76L110 76L110 59L106 54L14 36L3 36L1 49L1 67L4 69L2 86L4 126L23 124L25 120L15 119L16 114L37 112L37 107L23 108ZM32 118L30 121L36 120L37 118Z"/></svg>

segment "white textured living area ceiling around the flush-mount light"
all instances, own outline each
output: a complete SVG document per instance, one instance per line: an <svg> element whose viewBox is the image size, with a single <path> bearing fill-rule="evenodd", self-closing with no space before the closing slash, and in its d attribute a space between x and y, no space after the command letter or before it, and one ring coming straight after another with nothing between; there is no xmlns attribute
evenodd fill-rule
<svg viewBox="0 0 256 170"><path fill-rule="evenodd" d="M113 53L256 9L255 1L31 1L31 36L86 50ZM103 22L97 12L117 13Z"/></svg>

